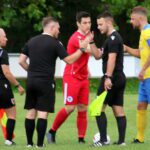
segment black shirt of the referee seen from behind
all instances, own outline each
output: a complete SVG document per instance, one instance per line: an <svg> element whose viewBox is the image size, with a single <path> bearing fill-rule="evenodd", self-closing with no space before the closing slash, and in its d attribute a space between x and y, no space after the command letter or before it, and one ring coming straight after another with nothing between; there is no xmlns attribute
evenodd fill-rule
<svg viewBox="0 0 150 150"><path fill-rule="evenodd" d="M56 59L68 56L63 45L47 34L30 39L22 49L29 57L28 77L45 77L54 79Z"/></svg>

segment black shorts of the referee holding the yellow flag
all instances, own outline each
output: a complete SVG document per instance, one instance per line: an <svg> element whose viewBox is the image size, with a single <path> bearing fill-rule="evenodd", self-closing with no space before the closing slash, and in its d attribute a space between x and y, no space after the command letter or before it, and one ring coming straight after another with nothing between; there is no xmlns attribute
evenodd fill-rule
<svg viewBox="0 0 150 150"><path fill-rule="evenodd" d="M105 78L102 77L100 85L97 91L97 95L100 95L104 91L104 81ZM104 104L109 106L117 105L123 106L124 104L124 90L126 85L126 77L124 73L117 73L112 78L112 88L108 90L108 94L104 101Z"/></svg>

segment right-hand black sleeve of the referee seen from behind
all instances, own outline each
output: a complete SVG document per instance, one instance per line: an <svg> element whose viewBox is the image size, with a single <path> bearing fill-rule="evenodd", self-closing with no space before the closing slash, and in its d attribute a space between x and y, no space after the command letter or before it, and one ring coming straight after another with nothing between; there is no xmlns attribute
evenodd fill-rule
<svg viewBox="0 0 150 150"><path fill-rule="evenodd" d="M60 41L56 43L56 52L60 59L64 59L68 56L68 53L66 52L63 44Z"/></svg>

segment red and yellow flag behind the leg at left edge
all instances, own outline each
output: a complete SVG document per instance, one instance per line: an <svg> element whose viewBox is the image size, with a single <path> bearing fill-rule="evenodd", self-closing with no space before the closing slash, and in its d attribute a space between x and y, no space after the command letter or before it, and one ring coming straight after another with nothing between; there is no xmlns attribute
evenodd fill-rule
<svg viewBox="0 0 150 150"><path fill-rule="evenodd" d="M2 127L2 132L5 139L7 137L6 124L7 124L6 112L4 109L0 109L0 125ZM13 138L14 138L14 134L13 134Z"/></svg>

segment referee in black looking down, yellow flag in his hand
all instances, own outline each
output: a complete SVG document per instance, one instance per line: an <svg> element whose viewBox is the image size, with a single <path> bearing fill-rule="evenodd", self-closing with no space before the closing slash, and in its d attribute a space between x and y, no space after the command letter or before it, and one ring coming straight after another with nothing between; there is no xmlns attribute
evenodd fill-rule
<svg viewBox="0 0 150 150"><path fill-rule="evenodd" d="M119 132L119 139L114 144L125 145L126 117L123 109L123 96L126 78L123 73L123 40L114 29L113 24L114 19L109 12L104 12L97 17L99 31L107 36L101 49L104 76L101 79L97 95L100 95L104 90L107 90L108 94L101 115L96 117L100 141L94 146L110 144L107 141L107 118L105 115L107 104L112 107Z"/></svg>

